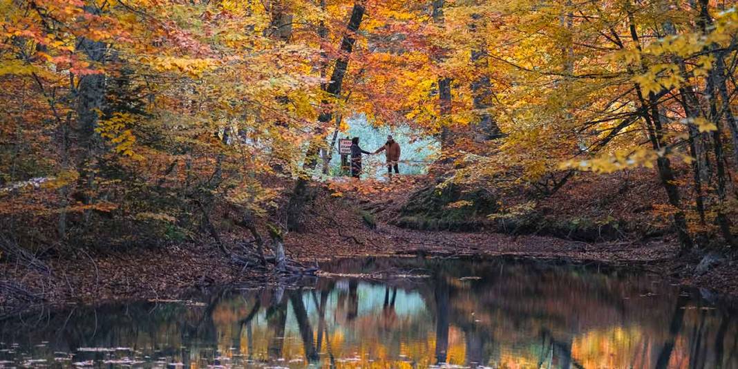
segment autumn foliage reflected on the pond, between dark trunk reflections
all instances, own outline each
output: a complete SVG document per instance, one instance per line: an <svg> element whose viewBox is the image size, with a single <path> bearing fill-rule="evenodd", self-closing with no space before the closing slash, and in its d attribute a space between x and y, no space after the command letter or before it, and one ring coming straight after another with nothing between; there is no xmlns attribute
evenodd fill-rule
<svg viewBox="0 0 738 369"><path fill-rule="evenodd" d="M130 303L72 314L59 311L49 316L48 325L35 328L25 325L27 320L6 320L0 323L0 341L30 342L22 349L32 351L33 357L52 359L54 351L76 347L134 347L139 359L166 357L190 366L213 365L218 355L228 357L232 365L244 365L246 358L267 361L277 339L285 359L280 365L302 368L307 363L306 345L294 315L294 303L300 299L315 339L311 344L320 347L321 357L330 350L348 368L394 367L405 360L427 367L435 364L435 325L441 314L435 306L435 283L444 281L449 297L447 358L453 365L476 358L500 368L537 367L540 360L551 362L552 368L565 360L584 368L622 368L629 363L649 368L669 338L680 293L648 276L507 259L368 258L337 261L326 268L367 274L422 270L435 277L358 283L359 314L353 320L345 319L351 287L331 279L318 281L315 290L286 292L276 305L270 303L274 292L269 289L236 290L207 297L207 303ZM386 296L394 288L396 300L390 305ZM323 293L327 298L321 307ZM255 307L258 313L244 322ZM715 336L719 327L725 330L721 341L725 348L738 343L734 335L738 325L727 314L694 304L683 308L672 363L699 356L710 367L712 359L707 358L715 345L695 342L720 339ZM90 319L92 315L97 318ZM320 342L319 327L323 327ZM275 331L280 329L283 333ZM44 340L49 340L47 347L32 346ZM729 352L725 349L723 357ZM728 367L733 364L727 362Z"/></svg>

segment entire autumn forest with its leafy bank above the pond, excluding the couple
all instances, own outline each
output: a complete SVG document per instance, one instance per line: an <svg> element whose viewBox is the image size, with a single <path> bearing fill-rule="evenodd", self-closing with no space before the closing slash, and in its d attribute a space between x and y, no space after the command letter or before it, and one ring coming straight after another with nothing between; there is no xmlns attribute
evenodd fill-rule
<svg viewBox="0 0 738 369"><path fill-rule="evenodd" d="M738 296L733 1L0 10L0 315L390 254L595 260ZM358 121L394 135L399 173L364 135L351 178Z"/></svg>

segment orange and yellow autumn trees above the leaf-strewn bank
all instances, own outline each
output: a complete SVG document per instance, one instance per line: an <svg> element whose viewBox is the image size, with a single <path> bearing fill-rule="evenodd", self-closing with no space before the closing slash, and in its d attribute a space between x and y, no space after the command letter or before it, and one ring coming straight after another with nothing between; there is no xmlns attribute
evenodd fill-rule
<svg viewBox="0 0 738 369"><path fill-rule="evenodd" d="M545 196L581 170L654 167L668 199L657 211L685 250L713 234L737 242L738 15L727 4L0 7L6 230L69 239L107 224L110 241L130 242L131 227L176 239L211 213L241 224L279 213L271 220L298 229L325 137L346 128L333 118L363 113L474 154L458 181ZM299 178L293 201L277 209L272 182L286 177Z"/></svg>

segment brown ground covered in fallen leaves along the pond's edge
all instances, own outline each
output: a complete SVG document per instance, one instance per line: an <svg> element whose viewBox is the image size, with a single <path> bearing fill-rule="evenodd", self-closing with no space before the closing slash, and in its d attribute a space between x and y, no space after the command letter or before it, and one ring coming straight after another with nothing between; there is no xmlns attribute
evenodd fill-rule
<svg viewBox="0 0 738 369"><path fill-rule="evenodd" d="M700 255L676 258L673 238L636 241L582 242L542 235L407 230L392 225L399 206L420 179L397 177L393 182L337 182L317 188L302 232L285 236L288 255L306 264L330 258L368 255L435 257L506 255L570 263L606 263L655 272L675 283L706 287L738 298L738 272L725 261L697 276ZM228 232L229 245L249 235ZM63 256L62 256L63 255ZM0 263L0 317L34 305L99 303L106 300L168 300L193 289L227 283L277 282L236 266L203 235L199 242L140 247L125 252L63 252L44 260L48 269L21 263Z"/></svg>

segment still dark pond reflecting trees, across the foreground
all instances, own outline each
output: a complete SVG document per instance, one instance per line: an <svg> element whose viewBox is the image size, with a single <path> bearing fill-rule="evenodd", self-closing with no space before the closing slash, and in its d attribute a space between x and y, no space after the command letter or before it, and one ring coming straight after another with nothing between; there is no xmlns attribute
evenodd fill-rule
<svg viewBox="0 0 738 369"><path fill-rule="evenodd" d="M0 367L738 368L735 309L655 275L510 259L323 268L300 287L5 320Z"/></svg>

